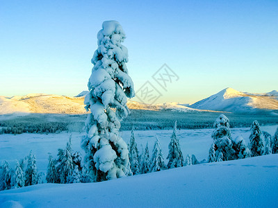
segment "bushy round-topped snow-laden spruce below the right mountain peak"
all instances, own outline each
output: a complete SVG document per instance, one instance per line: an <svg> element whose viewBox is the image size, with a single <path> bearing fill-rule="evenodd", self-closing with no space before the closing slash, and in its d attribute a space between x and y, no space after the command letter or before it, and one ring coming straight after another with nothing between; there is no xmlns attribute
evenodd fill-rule
<svg viewBox="0 0 278 208"><path fill-rule="evenodd" d="M216 128L211 135L215 144L215 157L218 158L218 155L222 153L224 161L237 159L234 150L236 147L231 139L229 119L224 114L220 114L213 127Z"/></svg>

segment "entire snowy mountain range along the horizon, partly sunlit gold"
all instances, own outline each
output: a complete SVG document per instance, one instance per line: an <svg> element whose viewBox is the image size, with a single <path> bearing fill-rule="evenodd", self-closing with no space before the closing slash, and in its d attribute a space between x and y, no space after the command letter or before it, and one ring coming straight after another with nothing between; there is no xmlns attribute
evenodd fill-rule
<svg viewBox="0 0 278 208"><path fill-rule="evenodd" d="M0 114L47 113L47 114L86 114L84 97L88 91L68 97L51 94L27 94L11 98L0 96ZM224 111L256 112L257 110L278 110L278 92L250 94L227 88L202 101L186 106L182 103L145 104L128 101L127 106L136 110L174 110L181 112Z"/></svg>

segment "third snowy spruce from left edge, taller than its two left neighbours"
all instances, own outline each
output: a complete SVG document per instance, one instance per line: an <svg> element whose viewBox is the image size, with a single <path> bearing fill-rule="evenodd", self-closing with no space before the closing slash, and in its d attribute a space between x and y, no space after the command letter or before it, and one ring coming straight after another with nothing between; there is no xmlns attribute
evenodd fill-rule
<svg viewBox="0 0 278 208"><path fill-rule="evenodd" d="M31 186L38 184L38 170L37 161L35 155L32 154L32 150L27 156L27 168L25 171L25 186Z"/></svg>

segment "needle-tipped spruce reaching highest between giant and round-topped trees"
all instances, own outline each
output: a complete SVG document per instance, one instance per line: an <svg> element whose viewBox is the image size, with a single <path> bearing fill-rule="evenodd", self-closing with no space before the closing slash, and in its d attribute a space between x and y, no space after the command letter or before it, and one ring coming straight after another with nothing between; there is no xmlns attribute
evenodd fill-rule
<svg viewBox="0 0 278 208"><path fill-rule="evenodd" d="M167 159L169 159L169 162L167 168L170 169L183 166L183 155L181 153L181 147L179 146L179 139L177 138L177 121L174 122L173 133L168 148L169 153Z"/></svg>

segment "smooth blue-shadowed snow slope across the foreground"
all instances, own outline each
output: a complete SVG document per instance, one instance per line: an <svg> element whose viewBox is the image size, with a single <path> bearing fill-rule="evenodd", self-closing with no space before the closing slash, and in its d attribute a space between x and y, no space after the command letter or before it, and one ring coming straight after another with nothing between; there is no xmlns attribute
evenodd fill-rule
<svg viewBox="0 0 278 208"><path fill-rule="evenodd" d="M277 207L278 155L0 192L0 207Z"/></svg>

